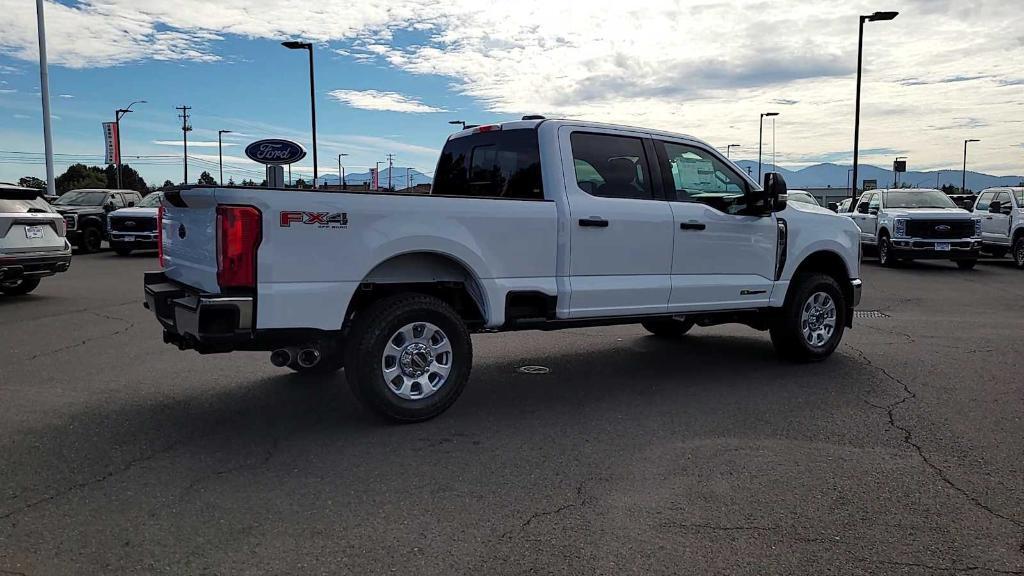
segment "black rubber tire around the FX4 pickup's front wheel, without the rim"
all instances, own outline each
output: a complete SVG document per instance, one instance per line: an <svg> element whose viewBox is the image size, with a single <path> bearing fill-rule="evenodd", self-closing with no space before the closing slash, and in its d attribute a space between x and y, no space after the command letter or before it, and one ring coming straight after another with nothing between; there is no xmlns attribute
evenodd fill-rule
<svg viewBox="0 0 1024 576"><path fill-rule="evenodd" d="M835 304L835 327L824 342L812 345L804 336L802 312L811 297L819 292L826 294ZM823 274L807 274L795 278L790 284L785 304L770 327L775 352L780 357L796 362L817 362L828 358L843 339L846 314L846 298L834 278Z"/></svg>

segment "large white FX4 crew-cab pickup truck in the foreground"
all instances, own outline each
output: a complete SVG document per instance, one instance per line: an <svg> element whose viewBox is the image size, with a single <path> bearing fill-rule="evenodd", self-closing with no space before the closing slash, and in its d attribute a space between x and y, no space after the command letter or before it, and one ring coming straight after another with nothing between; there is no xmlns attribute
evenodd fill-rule
<svg viewBox="0 0 1024 576"><path fill-rule="evenodd" d="M860 299L859 233L785 192L681 134L479 126L449 137L430 195L166 193L146 306L182 349L344 367L360 401L399 421L455 402L473 332L741 323L786 358L821 360Z"/></svg>

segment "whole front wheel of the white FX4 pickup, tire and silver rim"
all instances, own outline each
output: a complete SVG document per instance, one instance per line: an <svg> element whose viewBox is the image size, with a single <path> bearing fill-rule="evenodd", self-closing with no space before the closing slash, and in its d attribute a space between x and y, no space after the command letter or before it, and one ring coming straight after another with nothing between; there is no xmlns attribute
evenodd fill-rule
<svg viewBox="0 0 1024 576"><path fill-rule="evenodd" d="M846 298L829 276L795 279L785 305L770 328L779 356L797 362L824 360L836 351L846 328Z"/></svg>

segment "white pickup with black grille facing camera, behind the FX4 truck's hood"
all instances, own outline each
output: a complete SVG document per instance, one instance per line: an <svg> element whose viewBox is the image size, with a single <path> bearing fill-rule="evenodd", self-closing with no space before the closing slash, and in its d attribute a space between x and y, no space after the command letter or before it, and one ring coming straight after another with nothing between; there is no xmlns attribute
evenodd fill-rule
<svg viewBox="0 0 1024 576"><path fill-rule="evenodd" d="M948 259L964 270L978 263L981 222L942 191L871 190L850 214L860 241L879 252L884 266L899 260Z"/></svg>

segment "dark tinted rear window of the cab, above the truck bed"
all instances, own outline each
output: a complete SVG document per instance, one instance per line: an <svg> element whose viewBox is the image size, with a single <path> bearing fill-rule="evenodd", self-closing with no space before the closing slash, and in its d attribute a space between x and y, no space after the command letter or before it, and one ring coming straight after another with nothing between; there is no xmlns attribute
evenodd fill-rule
<svg viewBox="0 0 1024 576"><path fill-rule="evenodd" d="M495 130L449 140L430 194L544 200L537 130Z"/></svg>

